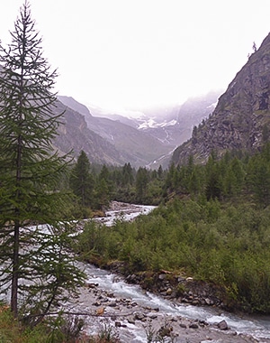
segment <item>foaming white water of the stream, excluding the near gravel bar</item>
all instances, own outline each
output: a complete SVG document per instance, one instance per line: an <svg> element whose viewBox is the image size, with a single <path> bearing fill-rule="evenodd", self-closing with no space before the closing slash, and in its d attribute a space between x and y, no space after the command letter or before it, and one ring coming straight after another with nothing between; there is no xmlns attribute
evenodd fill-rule
<svg viewBox="0 0 270 343"><path fill-rule="evenodd" d="M109 211L105 218L100 220L108 226L112 226L115 219L119 216L124 220L136 218L140 214L148 214L155 207L137 206L132 213L129 210ZM121 212L121 215L120 215ZM125 213L126 212L126 213ZM98 283L99 288L107 292L113 292L115 297L131 299L144 307L158 308L158 313L164 315L182 316L192 320L205 320L210 324L219 323L226 320L229 328L238 334L248 334L254 338L270 338L270 317L268 316L245 316L240 318L237 315L226 311L213 309L211 307L199 307L184 304L175 304L166 301L152 293L144 292L138 285L125 283L118 275L98 269L93 265L85 264L85 273L89 283ZM139 332L138 337L144 337L145 332ZM141 340L145 341L145 340Z"/></svg>

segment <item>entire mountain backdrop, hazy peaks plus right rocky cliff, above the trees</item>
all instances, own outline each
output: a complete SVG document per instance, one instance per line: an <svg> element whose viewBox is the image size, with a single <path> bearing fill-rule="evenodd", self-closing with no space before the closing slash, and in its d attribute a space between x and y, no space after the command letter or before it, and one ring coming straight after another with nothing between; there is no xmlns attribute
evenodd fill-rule
<svg viewBox="0 0 270 343"><path fill-rule="evenodd" d="M270 34L221 93L123 114L59 96L58 111L66 112L55 145L63 153L84 150L90 162L151 169L191 155L204 163L212 151L260 150L270 136Z"/></svg>

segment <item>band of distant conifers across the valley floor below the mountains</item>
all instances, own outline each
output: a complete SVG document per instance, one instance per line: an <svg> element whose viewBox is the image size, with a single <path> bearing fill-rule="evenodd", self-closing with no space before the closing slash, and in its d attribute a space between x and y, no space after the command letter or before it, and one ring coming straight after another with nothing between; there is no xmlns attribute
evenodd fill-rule
<svg viewBox="0 0 270 343"><path fill-rule="evenodd" d="M204 165L190 156L186 165L171 164L163 170L91 164L82 151L69 178L70 189L76 195L76 209L81 216L108 207L111 200L145 205L158 205L168 199L194 197L198 199L252 199L257 206L270 204L270 144L260 153L226 152L218 159L212 152Z"/></svg>

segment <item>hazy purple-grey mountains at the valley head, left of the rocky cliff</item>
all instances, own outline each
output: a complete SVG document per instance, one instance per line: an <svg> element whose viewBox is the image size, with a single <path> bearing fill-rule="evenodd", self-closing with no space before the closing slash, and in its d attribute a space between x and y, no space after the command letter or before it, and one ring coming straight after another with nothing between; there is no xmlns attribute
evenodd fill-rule
<svg viewBox="0 0 270 343"><path fill-rule="evenodd" d="M175 148L191 137L193 125L213 111L220 91L188 99L182 105L115 113L59 96L56 111L65 111L54 144L63 153L81 150L90 162L133 167L167 167Z"/></svg>

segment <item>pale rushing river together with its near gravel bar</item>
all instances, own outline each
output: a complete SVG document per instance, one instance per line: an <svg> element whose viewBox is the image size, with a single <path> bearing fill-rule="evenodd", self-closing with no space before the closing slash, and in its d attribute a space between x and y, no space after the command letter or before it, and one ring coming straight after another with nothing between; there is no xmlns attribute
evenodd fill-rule
<svg viewBox="0 0 270 343"><path fill-rule="evenodd" d="M106 217L98 220L111 226L116 218L131 220L139 214L148 214L154 208L131 206L129 209L112 209ZM112 329L116 325L117 329L113 330L117 331L122 342L148 342L149 328L157 333L162 325L170 325L175 337L158 341L270 342L270 317L239 317L211 307L174 303L144 292L138 285L125 283L119 275L91 264L80 265L87 275L88 286L82 289L75 309L92 313L92 316L85 316L85 331L88 334L98 332L101 326ZM99 316L96 317L96 314ZM215 325L222 320L226 320L229 326L226 332L221 332ZM197 329L189 328L193 322L200 324Z"/></svg>

